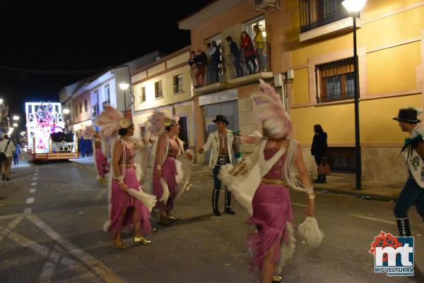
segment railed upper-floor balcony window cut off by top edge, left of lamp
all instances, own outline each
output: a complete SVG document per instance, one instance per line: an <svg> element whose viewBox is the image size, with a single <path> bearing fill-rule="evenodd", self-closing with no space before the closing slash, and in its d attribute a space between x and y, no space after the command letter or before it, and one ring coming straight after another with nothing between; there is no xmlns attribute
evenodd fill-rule
<svg viewBox="0 0 424 283"><path fill-rule="evenodd" d="M299 0L300 32L307 32L348 17L342 0Z"/></svg>

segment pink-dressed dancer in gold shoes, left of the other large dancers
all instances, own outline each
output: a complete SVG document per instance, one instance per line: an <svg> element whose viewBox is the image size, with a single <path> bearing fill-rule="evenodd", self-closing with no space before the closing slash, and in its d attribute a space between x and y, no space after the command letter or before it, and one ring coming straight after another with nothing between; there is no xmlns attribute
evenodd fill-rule
<svg viewBox="0 0 424 283"><path fill-rule="evenodd" d="M143 235L151 231L148 218L151 207L155 204L155 197L143 193L136 174L134 157L137 147L142 145L131 139L134 135L134 124L110 106L105 107L97 123L102 126L102 136L119 135L112 147L113 180L109 192L109 220L104 229L113 234L115 248L126 248L121 238L121 231L125 227L134 227L134 243L151 243Z"/></svg>

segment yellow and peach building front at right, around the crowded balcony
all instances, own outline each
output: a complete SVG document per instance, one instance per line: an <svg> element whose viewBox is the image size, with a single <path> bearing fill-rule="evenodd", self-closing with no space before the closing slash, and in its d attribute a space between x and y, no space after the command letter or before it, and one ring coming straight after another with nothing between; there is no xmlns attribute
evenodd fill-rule
<svg viewBox="0 0 424 283"><path fill-rule="evenodd" d="M230 78L194 88L197 128L207 119L201 97L237 90L238 129L244 134L260 129L249 99L257 79L276 83L295 124L310 171L314 124L328 133L329 157L334 171L355 172L355 118L353 71L353 18L340 0L215 1L187 19L179 28L191 30L192 49L206 42L237 38L251 23L264 25L271 67L255 76ZM325 4L324 4L325 2ZM259 11L259 8L261 11ZM421 107L424 92L424 4L418 0L368 0L357 18L360 85L360 145L363 177L402 181L406 177L399 151L406 138L396 121L399 108ZM228 50L223 50L226 58ZM228 72L228 62L226 71ZM271 73L271 76L270 76ZM282 75L282 76L281 76ZM281 83L281 78L283 78ZM199 102L200 101L200 102ZM196 143L204 143L196 136ZM249 148L245 147L245 151Z"/></svg>

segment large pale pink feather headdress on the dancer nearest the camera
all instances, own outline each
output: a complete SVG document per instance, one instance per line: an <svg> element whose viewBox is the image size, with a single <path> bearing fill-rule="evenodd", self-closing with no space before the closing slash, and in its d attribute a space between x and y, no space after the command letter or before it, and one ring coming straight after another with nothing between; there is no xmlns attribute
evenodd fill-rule
<svg viewBox="0 0 424 283"><path fill-rule="evenodd" d="M254 93L252 99L258 106L258 118L262 121L264 128L271 138L293 136L293 123L285 112L281 98L271 85L261 79L259 82L262 92Z"/></svg>

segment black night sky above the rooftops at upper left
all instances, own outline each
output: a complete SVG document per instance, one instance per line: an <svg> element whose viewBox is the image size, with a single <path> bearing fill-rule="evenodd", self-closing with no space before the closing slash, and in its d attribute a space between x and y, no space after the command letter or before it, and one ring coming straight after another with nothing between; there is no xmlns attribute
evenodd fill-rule
<svg viewBox="0 0 424 283"><path fill-rule="evenodd" d="M21 131L25 102L59 102L62 87L93 75L93 70L189 45L189 31L178 30L177 21L208 3L1 0L0 98L9 105L9 116L21 116ZM92 72L54 72L86 70Z"/></svg>

